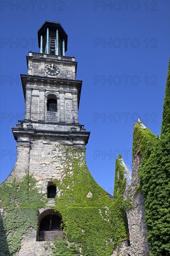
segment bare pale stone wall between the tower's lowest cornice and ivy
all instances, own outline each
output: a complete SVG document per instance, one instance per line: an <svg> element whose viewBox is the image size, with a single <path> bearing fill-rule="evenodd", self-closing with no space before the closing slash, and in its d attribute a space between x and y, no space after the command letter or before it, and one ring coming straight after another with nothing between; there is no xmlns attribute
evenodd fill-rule
<svg viewBox="0 0 170 256"><path fill-rule="evenodd" d="M42 192L46 193L49 181L63 177L65 147L67 146L43 137L32 139L29 146L18 145L17 161L7 180L11 181L15 176L19 181L26 172L33 173L42 186Z"/></svg>

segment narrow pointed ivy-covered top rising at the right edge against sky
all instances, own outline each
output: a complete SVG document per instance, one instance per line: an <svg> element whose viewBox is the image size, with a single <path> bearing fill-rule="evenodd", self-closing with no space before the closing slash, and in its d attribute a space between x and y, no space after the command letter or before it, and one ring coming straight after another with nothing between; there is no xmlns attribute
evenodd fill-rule
<svg viewBox="0 0 170 256"><path fill-rule="evenodd" d="M166 82L165 98L163 103L163 120L161 135L170 133L170 60Z"/></svg>

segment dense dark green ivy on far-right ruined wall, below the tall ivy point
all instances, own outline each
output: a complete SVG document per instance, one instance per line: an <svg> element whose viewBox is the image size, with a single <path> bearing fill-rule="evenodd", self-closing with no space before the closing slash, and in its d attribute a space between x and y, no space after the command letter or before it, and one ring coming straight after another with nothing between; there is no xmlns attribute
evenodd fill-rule
<svg viewBox="0 0 170 256"><path fill-rule="evenodd" d="M170 255L170 134L160 138L140 124L134 128L133 153L140 148L138 168L140 188L144 193L147 239L150 256Z"/></svg>

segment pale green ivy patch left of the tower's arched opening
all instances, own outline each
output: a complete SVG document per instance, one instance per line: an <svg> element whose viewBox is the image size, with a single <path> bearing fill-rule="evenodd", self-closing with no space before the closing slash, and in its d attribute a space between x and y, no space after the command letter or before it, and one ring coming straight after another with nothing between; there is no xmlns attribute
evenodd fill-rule
<svg viewBox="0 0 170 256"><path fill-rule="evenodd" d="M23 235L38 227L38 209L46 205L39 193L33 175L25 175L20 182L3 182L0 185L0 248L4 256L13 255L21 247Z"/></svg>

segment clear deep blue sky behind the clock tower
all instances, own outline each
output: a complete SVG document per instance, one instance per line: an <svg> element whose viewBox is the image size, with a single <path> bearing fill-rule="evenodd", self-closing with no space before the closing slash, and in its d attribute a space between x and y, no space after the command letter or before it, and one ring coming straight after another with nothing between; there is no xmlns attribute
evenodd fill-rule
<svg viewBox="0 0 170 256"><path fill-rule="evenodd" d="M78 61L83 80L79 122L91 131L87 166L113 192L115 158L131 169L133 123L139 117L160 134L170 56L170 2L1 1L1 169L2 182L16 160L11 131L24 118L20 74L26 55L39 52L37 30L45 20L68 34L66 56Z"/></svg>

